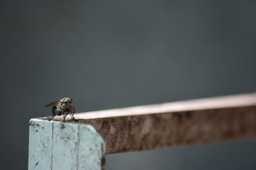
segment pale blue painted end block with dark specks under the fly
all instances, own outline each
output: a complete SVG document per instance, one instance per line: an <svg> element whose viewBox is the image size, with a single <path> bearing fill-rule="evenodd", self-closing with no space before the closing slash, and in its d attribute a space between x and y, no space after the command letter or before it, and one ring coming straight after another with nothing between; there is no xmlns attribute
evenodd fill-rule
<svg viewBox="0 0 256 170"><path fill-rule="evenodd" d="M104 169L104 139L91 126L33 118L29 170Z"/></svg>

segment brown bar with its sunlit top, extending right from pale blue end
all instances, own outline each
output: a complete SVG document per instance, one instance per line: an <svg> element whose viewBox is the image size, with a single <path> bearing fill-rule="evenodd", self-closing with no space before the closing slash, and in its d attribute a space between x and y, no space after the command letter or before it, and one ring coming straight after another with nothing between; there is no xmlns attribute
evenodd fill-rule
<svg viewBox="0 0 256 170"><path fill-rule="evenodd" d="M106 153L250 138L256 136L256 94L91 111L75 117L79 124L95 127L106 141Z"/></svg>

